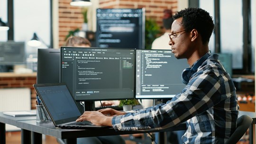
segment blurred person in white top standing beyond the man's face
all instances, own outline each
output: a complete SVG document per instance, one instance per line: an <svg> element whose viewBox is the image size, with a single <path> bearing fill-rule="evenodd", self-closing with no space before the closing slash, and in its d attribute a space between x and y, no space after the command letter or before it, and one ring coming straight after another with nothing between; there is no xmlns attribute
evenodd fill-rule
<svg viewBox="0 0 256 144"><path fill-rule="evenodd" d="M169 34L171 34L172 24L174 22L172 9L165 9L163 16L163 25L165 33L164 35L156 38L153 43L151 49L171 49L170 45L168 45Z"/></svg>

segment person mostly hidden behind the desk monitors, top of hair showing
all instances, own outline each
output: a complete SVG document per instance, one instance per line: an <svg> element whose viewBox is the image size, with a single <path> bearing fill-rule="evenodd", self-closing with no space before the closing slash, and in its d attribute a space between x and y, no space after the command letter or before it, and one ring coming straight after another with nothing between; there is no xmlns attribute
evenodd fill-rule
<svg viewBox="0 0 256 144"><path fill-rule="evenodd" d="M91 43L86 38L71 36L67 39L66 46L91 47ZM77 144L125 144L125 140L120 135L81 137L77 138Z"/></svg>

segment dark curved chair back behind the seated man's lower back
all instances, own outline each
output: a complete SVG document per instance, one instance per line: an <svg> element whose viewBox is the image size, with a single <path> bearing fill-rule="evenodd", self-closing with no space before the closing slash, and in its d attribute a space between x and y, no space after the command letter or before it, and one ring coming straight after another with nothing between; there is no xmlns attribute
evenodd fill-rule
<svg viewBox="0 0 256 144"><path fill-rule="evenodd" d="M237 144L240 138L246 133L249 126L252 124L253 119L247 115L238 118L238 126L234 133L229 137L225 144Z"/></svg>

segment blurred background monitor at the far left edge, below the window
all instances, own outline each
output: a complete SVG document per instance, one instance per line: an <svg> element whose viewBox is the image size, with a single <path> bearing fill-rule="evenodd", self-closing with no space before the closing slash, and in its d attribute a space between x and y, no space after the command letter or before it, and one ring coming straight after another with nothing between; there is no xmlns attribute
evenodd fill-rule
<svg viewBox="0 0 256 144"><path fill-rule="evenodd" d="M0 42L0 65L25 64L24 42Z"/></svg>

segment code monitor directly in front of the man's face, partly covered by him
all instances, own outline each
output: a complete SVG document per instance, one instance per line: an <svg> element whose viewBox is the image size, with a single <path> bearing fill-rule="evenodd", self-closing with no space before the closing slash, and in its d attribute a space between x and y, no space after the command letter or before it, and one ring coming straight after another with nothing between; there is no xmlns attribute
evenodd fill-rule
<svg viewBox="0 0 256 144"><path fill-rule="evenodd" d="M136 99L173 98L185 84L181 74L189 67L171 50L136 50Z"/></svg>

